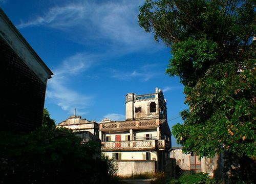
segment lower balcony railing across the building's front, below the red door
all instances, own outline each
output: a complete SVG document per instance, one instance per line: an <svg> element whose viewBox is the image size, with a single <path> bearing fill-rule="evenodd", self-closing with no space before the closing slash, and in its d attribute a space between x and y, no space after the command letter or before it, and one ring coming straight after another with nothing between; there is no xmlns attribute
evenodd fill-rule
<svg viewBox="0 0 256 184"><path fill-rule="evenodd" d="M156 150L168 148L166 140L141 140L141 141L113 141L102 142L102 151L135 151Z"/></svg>

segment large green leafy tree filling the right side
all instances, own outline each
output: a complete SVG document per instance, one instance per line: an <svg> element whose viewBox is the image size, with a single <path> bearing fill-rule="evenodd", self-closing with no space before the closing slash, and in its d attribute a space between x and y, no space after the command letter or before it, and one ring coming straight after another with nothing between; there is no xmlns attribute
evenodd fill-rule
<svg viewBox="0 0 256 184"><path fill-rule="evenodd" d="M183 124L173 127L185 152L221 151L255 160L255 1L147 0L139 24L172 49L166 73L184 84Z"/></svg>

